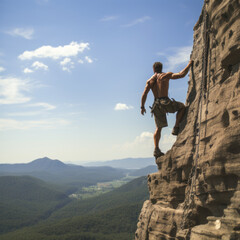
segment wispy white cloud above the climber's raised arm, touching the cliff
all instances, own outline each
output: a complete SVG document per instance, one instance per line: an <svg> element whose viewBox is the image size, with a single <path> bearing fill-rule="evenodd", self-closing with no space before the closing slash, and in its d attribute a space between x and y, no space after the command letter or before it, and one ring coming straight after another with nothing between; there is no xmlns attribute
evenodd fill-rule
<svg viewBox="0 0 240 240"><path fill-rule="evenodd" d="M166 67L168 71L173 71L176 67L186 64L190 60L192 46L184 46L171 49L171 53L160 52L158 55L165 56L167 59Z"/></svg>

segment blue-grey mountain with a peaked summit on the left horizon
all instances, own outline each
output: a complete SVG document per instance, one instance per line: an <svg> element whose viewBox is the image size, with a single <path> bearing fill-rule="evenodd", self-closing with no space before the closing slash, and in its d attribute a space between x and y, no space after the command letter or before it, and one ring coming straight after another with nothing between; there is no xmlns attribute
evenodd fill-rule
<svg viewBox="0 0 240 240"><path fill-rule="evenodd" d="M67 165L59 160L52 160L47 157L24 164L0 164L0 176L28 175L44 181L72 184L77 187L120 179L126 173L127 171L124 169L114 169L108 166Z"/></svg>

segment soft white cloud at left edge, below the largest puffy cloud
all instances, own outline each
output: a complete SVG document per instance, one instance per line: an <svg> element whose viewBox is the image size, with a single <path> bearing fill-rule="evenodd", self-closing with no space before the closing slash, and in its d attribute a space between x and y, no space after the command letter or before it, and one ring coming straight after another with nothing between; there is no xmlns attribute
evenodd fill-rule
<svg viewBox="0 0 240 240"><path fill-rule="evenodd" d="M28 80L19 78L0 77L0 104L18 104L25 103L31 100L26 97L23 92L30 90Z"/></svg>

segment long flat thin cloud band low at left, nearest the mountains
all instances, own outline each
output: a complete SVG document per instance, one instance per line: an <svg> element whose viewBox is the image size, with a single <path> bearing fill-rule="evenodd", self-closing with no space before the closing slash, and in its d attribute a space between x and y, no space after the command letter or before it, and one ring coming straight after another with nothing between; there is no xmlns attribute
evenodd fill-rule
<svg viewBox="0 0 240 240"><path fill-rule="evenodd" d="M65 119L46 119L33 121L19 121L15 119L1 118L0 131L6 130L28 130L28 129L54 129L60 126L68 125L70 122Z"/></svg>

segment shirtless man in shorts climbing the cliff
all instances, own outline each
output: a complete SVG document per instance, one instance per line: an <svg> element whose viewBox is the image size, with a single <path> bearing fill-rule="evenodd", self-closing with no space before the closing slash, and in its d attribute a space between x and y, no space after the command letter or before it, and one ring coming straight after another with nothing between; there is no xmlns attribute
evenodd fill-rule
<svg viewBox="0 0 240 240"><path fill-rule="evenodd" d="M144 105L147 99L148 92L151 89L155 98L151 110L151 112L154 115L156 123L156 131L153 135L155 145L153 155L155 156L155 158L164 155L164 153L162 153L161 150L159 149L159 141L161 137L162 128L168 126L166 113L177 112L176 123L172 131L173 135L178 135L179 123L182 121L183 115L185 113L185 105L183 103L176 102L174 99L172 101L168 97L169 80L185 77L192 63L193 63L192 60L189 61L188 65L179 73L172 72L163 73L162 63L155 62L153 64L154 75L147 81L146 87L144 89L141 99L141 114L144 115L144 113L146 113Z"/></svg>

